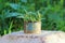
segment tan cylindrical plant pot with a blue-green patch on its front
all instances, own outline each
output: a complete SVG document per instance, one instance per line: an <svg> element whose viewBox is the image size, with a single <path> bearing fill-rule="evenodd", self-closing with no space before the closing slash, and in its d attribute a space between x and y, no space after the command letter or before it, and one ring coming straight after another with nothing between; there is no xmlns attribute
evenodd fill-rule
<svg viewBox="0 0 65 43"><path fill-rule="evenodd" d="M25 33L41 33L41 22L25 23L24 32Z"/></svg>

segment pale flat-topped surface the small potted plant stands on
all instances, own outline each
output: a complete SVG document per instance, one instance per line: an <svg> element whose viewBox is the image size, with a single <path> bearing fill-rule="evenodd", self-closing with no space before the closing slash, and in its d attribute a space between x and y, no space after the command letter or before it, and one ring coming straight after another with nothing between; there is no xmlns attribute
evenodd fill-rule
<svg viewBox="0 0 65 43"><path fill-rule="evenodd" d="M0 43L65 43L65 32L42 30L41 34L26 34L18 31L3 35Z"/></svg>

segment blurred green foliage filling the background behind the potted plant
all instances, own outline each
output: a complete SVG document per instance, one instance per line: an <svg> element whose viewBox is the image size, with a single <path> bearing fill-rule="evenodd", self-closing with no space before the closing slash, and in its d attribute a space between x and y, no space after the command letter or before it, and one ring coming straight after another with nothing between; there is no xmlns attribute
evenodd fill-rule
<svg viewBox="0 0 65 43"><path fill-rule="evenodd" d="M65 0L0 0L0 34L23 30L26 11L42 13L42 30L65 31Z"/></svg>

